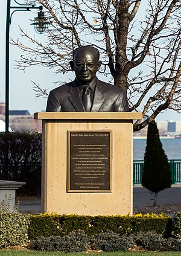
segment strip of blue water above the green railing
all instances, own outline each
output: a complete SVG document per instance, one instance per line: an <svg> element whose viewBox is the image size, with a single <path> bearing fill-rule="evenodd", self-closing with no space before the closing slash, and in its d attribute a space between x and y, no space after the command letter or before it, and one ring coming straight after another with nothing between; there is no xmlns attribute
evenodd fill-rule
<svg viewBox="0 0 181 256"><path fill-rule="evenodd" d="M160 139L168 159L181 159L181 139ZM144 159L146 139L134 139L133 159Z"/></svg>

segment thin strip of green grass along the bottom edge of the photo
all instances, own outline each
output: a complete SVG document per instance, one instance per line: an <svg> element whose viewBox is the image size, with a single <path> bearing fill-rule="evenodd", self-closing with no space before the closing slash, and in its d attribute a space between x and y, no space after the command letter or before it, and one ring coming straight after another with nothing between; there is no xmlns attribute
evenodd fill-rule
<svg viewBox="0 0 181 256"><path fill-rule="evenodd" d="M179 256L180 252L72 252L72 253L63 253L63 252L37 252L37 251L14 251L14 250L0 250L0 256L31 256L31 255L40 255L40 256Z"/></svg>

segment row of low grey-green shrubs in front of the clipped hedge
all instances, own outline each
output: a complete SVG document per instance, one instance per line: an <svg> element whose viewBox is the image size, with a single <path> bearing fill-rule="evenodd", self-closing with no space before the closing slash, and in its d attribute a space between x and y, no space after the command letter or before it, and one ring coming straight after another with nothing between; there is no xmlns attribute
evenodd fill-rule
<svg viewBox="0 0 181 256"><path fill-rule="evenodd" d="M36 251L83 252L90 249L116 252L134 249L135 245L147 251L181 251L181 240L164 238L156 232L140 232L127 237L107 231L88 238L81 230L65 236L38 237L31 242L30 248Z"/></svg>

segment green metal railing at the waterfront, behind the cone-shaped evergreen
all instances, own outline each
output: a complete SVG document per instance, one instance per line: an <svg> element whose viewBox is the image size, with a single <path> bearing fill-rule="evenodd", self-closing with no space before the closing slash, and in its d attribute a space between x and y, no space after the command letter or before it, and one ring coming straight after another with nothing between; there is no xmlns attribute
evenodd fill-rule
<svg viewBox="0 0 181 256"><path fill-rule="evenodd" d="M172 183L181 183L181 159L168 160L171 165L171 179ZM133 185L141 184L142 173L144 170L144 160L133 161Z"/></svg>

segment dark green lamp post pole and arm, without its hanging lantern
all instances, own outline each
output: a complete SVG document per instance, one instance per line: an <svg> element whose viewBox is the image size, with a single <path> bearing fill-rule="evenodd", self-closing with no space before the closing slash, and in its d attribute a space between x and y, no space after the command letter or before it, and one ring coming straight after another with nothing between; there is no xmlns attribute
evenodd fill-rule
<svg viewBox="0 0 181 256"><path fill-rule="evenodd" d="M7 16L6 16L6 34L5 34L5 132L8 133L9 128L9 73L10 73L10 24L14 11L30 11L31 9L39 9L42 11L42 6L36 7L35 4L19 4L19 6L11 6L11 0L7 0ZM11 9L14 11L10 14Z"/></svg>

